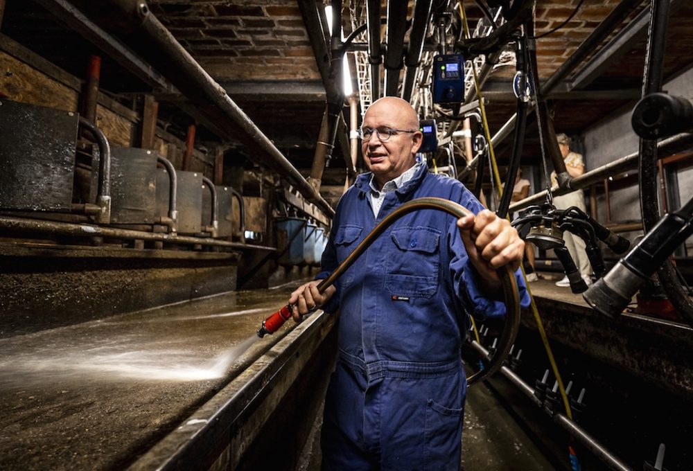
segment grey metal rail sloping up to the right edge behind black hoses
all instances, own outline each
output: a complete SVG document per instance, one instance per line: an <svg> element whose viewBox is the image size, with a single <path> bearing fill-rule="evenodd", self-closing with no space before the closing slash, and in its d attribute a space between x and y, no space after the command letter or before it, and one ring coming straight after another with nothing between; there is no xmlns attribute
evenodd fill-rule
<svg viewBox="0 0 693 471"><path fill-rule="evenodd" d="M657 147L662 154L671 155L684 150L688 145L691 144L693 144L693 134L676 134L676 136L659 141ZM587 188L590 185L597 184L607 177L613 177L614 175L618 175L626 170L633 170L638 166L638 155L638 152L633 152L632 154L626 155L626 157L621 157L620 159L606 163L605 165L595 168L594 170L585 172L583 175L580 175L579 177L576 177L570 181L570 188L559 188L558 186L553 186L551 188L552 193L554 195L565 195L565 193L570 193L571 191ZM541 204L546 198L546 193L546 190L543 190L522 199L515 204L511 204L509 211L519 211L530 204Z"/></svg>

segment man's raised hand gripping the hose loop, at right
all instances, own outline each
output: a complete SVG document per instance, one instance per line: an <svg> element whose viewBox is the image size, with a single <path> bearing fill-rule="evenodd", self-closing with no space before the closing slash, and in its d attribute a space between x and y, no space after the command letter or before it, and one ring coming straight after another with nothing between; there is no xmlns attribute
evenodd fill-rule
<svg viewBox="0 0 693 471"><path fill-rule="evenodd" d="M509 265L513 271L520 267L525 241L507 219L484 209L476 216L460 217L457 227L469 260L484 280L486 289L500 286L496 273L500 267Z"/></svg>

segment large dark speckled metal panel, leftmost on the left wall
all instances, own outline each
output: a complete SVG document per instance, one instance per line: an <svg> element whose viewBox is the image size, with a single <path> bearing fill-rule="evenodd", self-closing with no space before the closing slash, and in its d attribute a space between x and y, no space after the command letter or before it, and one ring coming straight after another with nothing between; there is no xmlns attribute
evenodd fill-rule
<svg viewBox="0 0 693 471"><path fill-rule="evenodd" d="M70 211L78 115L0 100L0 208Z"/></svg>

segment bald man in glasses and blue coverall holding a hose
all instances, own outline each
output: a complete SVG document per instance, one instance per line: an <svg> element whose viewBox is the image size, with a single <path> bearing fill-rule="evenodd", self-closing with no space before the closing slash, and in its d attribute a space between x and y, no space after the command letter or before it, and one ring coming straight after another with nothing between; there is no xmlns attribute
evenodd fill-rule
<svg viewBox="0 0 693 471"><path fill-rule="evenodd" d="M495 270L517 269L524 243L457 180L433 175L405 100L377 100L360 130L369 172L337 206L322 272L291 294L294 318L340 310L339 359L325 400L325 470L459 469L468 314L505 314ZM441 197L475 215L416 211L394 222L323 294L326 278L404 202ZM529 298L520 274L523 305Z"/></svg>

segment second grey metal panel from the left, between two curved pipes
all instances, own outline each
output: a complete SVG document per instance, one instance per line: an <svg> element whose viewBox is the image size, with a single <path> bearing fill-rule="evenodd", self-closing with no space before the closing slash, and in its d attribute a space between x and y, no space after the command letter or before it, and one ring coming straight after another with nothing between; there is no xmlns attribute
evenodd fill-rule
<svg viewBox="0 0 693 471"><path fill-rule="evenodd" d="M138 148L112 148L111 222L153 224L157 154Z"/></svg>

